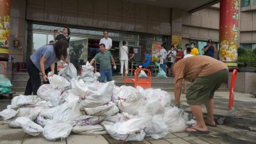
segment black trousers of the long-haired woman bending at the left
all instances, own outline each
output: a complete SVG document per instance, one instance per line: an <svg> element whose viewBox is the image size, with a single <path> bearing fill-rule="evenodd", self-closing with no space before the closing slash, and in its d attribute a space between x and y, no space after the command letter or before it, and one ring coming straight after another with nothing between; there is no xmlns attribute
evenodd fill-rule
<svg viewBox="0 0 256 144"><path fill-rule="evenodd" d="M41 86L40 71L29 58L26 62L26 69L29 74L26 90L24 95L36 95L38 88Z"/></svg>

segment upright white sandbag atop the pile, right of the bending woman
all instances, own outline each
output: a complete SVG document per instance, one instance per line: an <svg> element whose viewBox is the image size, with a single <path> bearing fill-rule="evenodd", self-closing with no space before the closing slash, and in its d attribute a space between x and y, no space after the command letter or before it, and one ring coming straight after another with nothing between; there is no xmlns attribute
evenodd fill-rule
<svg viewBox="0 0 256 144"><path fill-rule="evenodd" d="M63 68L63 72L59 76L65 77L68 81L77 79L77 69L72 63L68 63L67 67Z"/></svg>

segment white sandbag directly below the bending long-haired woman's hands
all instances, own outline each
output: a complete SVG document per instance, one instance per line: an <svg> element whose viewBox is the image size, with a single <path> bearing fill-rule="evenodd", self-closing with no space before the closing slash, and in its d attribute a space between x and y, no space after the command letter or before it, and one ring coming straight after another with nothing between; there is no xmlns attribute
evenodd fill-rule
<svg viewBox="0 0 256 144"><path fill-rule="evenodd" d="M56 74L54 74L53 76L49 76L48 78L52 88L54 89L55 88L62 89L70 86L70 83L67 79L61 76L57 76Z"/></svg>

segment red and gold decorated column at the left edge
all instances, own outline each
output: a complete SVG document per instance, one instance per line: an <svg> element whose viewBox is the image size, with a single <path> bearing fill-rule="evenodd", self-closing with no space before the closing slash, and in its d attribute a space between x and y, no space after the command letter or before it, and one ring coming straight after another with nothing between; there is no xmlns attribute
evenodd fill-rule
<svg viewBox="0 0 256 144"><path fill-rule="evenodd" d="M0 0L0 60L8 60L10 0Z"/></svg>

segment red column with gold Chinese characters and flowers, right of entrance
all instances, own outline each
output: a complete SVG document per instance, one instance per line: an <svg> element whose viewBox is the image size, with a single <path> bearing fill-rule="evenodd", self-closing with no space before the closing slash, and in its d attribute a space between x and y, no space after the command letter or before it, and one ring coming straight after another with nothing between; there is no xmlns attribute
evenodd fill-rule
<svg viewBox="0 0 256 144"><path fill-rule="evenodd" d="M239 47L239 0L220 1L220 60L237 66Z"/></svg>

